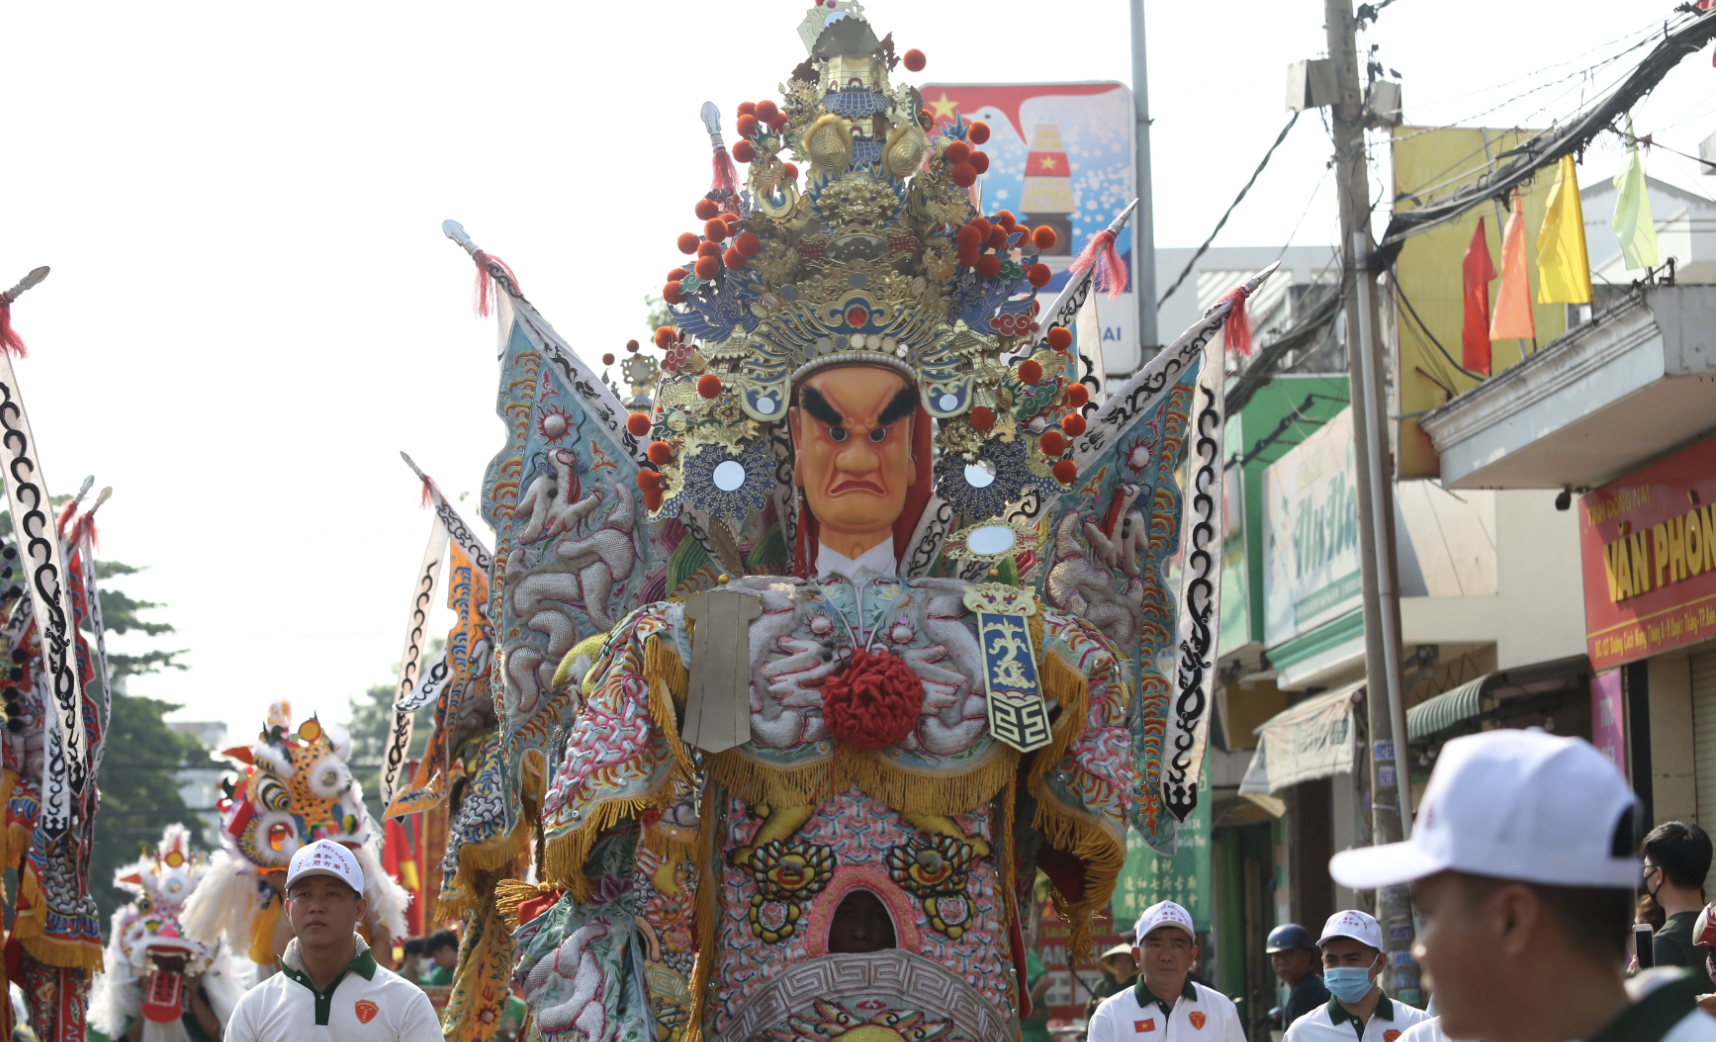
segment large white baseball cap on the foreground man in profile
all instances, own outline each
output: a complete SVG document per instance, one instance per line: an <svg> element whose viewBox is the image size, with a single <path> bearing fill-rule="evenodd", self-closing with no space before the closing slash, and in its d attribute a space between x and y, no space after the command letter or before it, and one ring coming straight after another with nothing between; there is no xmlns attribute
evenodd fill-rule
<svg viewBox="0 0 1716 1042"><path fill-rule="evenodd" d="M1639 882L1634 836L1618 833L1635 807L1627 779L1591 743L1543 731L1484 731L1443 745L1411 839L1344 850L1330 858L1328 872L1352 889L1447 870L1632 889Z"/></svg>

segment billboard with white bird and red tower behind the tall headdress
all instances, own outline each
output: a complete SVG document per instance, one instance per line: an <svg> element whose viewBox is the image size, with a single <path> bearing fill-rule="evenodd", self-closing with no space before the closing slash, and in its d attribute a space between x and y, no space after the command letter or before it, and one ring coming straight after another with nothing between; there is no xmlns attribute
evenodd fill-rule
<svg viewBox="0 0 1716 1042"><path fill-rule="evenodd" d="M1043 292L1067 283L1067 264L1091 237L1138 197L1133 93L1121 82L923 84L923 110L937 124L956 118L988 124L988 170L978 182L982 209L1011 209L1031 227L1048 225L1057 242L1040 256L1055 276ZM1133 237L1117 240L1127 268L1126 292L1103 306L1102 354L1109 373L1134 373L1138 297L1131 285ZM1153 290L1151 290L1153 292ZM1079 304L1083 297L1079 299ZM1074 304L1074 311L1076 311ZM1043 309L1047 330L1057 319ZM1071 316L1069 316L1071 318ZM1079 348L1083 354L1083 347Z"/></svg>

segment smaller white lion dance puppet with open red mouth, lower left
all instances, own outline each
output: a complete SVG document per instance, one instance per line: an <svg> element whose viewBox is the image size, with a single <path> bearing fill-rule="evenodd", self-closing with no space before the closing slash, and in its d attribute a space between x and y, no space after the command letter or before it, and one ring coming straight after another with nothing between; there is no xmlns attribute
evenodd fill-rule
<svg viewBox="0 0 1716 1042"><path fill-rule="evenodd" d="M223 941L185 936L185 901L208 875L190 853L190 833L166 826L154 853L115 874L137 900L113 913L106 972L96 977L89 1023L108 1039L125 1037L141 1016L142 1042L216 1042L247 987ZM247 972L247 968L245 968Z"/></svg>

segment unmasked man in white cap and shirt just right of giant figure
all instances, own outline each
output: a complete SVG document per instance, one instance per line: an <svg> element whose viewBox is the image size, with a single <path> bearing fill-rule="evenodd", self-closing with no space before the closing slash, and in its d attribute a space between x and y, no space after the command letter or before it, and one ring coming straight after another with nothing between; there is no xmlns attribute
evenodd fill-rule
<svg viewBox="0 0 1716 1042"><path fill-rule="evenodd" d="M1097 1006L1088 1042L1246 1042L1234 1003L1189 978L1198 934L1184 908L1174 901L1145 908L1134 937L1138 984Z"/></svg>

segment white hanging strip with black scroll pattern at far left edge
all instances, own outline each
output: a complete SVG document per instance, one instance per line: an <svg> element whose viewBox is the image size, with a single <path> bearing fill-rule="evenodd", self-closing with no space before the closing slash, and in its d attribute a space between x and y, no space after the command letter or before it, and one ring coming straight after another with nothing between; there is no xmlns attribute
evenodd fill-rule
<svg viewBox="0 0 1716 1042"><path fill-rule="evenodd" d="M41 477L36 453L36 434L24 412L12 357L0 350L0 465L5 467L12 530L24 566L24 589L29 591L41 633L48 702L55 716L43 766L39 827L50 838L58 838L72 824L69 797L84 791L89 757L84 742L82 685L72 645L74 623L62 584L65 565L53 529L48 486Z"/></svg>

